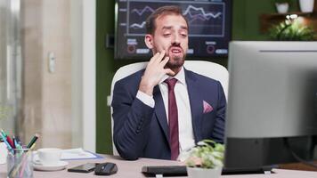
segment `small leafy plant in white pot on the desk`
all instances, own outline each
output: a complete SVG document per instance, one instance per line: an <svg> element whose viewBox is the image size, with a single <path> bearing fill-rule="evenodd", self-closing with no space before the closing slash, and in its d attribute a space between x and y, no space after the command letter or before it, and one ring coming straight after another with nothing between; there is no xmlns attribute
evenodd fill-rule
<svg viewBox="0 0 317 178"><path fill-rule="evenodd" d="M183 151L179 159L187 166L189 177L218 178L224 166L224 145L203 140L191 150Z"/></svg>

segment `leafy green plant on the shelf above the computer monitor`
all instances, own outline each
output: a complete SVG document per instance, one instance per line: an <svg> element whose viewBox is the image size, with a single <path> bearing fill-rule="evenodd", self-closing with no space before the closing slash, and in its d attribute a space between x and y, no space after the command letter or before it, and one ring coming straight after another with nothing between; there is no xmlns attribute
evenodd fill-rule
<svg viewBox="0 0 317 178"><path fill-rule="evenodd" d="M277 41L312 41L315 39L315 32L298 20L285 20L272 26L269 36Z"/></svg>

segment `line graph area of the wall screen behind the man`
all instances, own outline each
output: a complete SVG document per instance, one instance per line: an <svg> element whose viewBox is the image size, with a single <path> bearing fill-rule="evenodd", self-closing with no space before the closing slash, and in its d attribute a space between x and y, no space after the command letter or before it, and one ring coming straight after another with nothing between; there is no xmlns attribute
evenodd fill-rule
<svg viewBox="0 0 317 178"><path fill-rule="evenodd" d="M190 36L224 36L224 2L129 1L126 13L127 34L143 36L145 20L162 5L180 5L190 26Z"/></svg>

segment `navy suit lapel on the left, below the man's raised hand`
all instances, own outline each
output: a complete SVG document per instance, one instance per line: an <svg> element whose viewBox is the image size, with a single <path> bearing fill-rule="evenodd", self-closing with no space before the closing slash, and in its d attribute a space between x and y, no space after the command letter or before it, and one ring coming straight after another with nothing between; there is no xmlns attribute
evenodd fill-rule
<svg viewBox="0 0 317 178"><path fill-rule="evenodd" d="M155 115L157 116L158 123L164 131L164 134L169 142L168 125L167 125L167 113L164 107L164 101L162 94L159 91L159 86L156 85L153 90L153 98L155 101Z"/></svg>

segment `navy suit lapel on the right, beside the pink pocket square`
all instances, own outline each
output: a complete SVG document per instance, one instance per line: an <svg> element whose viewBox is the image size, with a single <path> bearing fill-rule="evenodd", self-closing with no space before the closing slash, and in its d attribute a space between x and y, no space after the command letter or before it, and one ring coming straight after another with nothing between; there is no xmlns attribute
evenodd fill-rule
<svg viewBox="0 0 317 178"><path fill-rule="evenodd" d="M202 140L201 125L202 125L202 113L203 113L203 98L199 92L199 85L197 84L197 78L191 71L185 69L185 78L187 84L188 95L191 103L191 120L192 127L195 136L195 142Z"/></svg>

